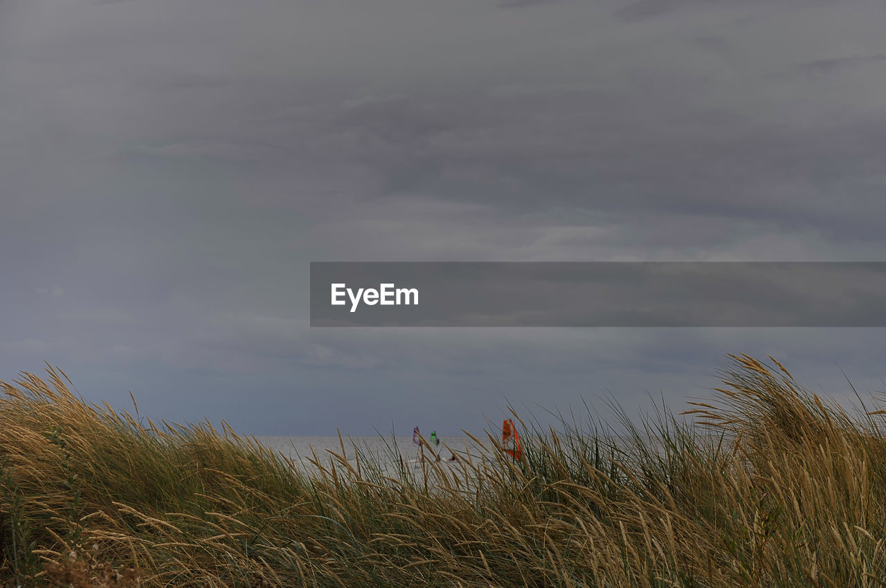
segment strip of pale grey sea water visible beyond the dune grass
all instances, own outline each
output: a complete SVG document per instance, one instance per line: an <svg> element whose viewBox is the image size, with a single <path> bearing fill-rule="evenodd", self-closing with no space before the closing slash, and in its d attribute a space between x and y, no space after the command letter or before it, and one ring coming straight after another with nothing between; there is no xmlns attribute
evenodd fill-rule
<svg viewBox="0 0 886 588"><path fill-rule="evenodd" d="M289 458L297 468L303 471L311 471L315 466L311 463L314 456L323 464L329 464L335 460L332 453L341 454L342 446L338 437L255 437L261 445L272 449L284 457ZM480 459L486 454L483 448L474 443L470 437L439 437L440 444L434 449L441 460L448 460L453 454L460 458L470 455L472 459ZM385 468L398 465L400 458L406 463L416 460L419 447L412 442L412 437L342 437L345 445L346 459L354 463L356 451L354 445L359 447L364 455L375 456L378 462ZM427 448L424 456L430 457Z"/></svg>

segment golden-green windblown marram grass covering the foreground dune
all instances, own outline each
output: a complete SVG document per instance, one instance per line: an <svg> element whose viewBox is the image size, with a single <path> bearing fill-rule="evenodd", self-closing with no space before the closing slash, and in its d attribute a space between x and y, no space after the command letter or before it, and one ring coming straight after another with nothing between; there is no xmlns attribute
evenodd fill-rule
<svg viewBox="0 0 886 588"><path fill-rule="evenodd" d="M770 358L771 359L771 358ZM777 361L734 356L694 424L659 410L391 473L358 447L293 465L226 425L0 383L9 586L878 586L886 437ZM863 406L862 406L863 408Z"/></svg>

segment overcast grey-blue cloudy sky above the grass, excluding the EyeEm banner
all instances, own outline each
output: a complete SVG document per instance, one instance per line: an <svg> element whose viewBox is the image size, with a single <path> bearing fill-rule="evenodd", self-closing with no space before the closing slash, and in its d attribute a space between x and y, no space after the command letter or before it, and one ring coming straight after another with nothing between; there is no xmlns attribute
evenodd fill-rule
<svg viewBox="0 0 886 588"><path fill-rule="evenodd" d="M886 261L886 5L0 0L0 379L256 435L886 390L884 329L312 329L311 261ZM845 374L845 375L844 375Z"/></svg>

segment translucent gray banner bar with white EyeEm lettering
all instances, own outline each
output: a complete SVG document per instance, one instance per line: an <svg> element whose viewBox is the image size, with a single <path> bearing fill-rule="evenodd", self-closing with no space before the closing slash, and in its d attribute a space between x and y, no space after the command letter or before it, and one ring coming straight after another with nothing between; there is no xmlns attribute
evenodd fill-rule
<svg viewBox="0 0 886 588"><path fill-rule="evenodd" d="M315 262L311 326L886 327L886 262Z"/></svg>

